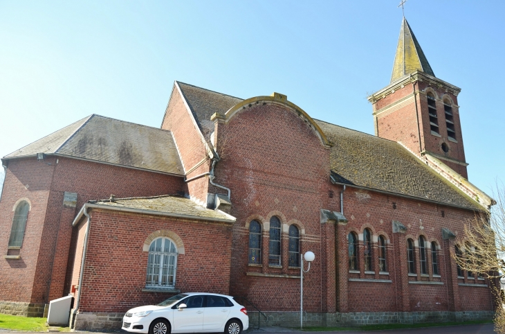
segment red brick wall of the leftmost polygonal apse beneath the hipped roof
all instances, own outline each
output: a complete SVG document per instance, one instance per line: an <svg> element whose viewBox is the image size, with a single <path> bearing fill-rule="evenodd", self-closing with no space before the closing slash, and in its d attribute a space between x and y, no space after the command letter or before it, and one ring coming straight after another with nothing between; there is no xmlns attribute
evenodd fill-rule
<svg viewBox="0 0 505 334"><path fill-rule="evenodd" d="M2 284L0 300L44 303L69 292L65 275L73 233L71 223L84 202L108 198L111 194L134 197L183 190L182 177L77 159L57 160L56 163L56 158L46 157L37 161L33 157L9 161L0 202L0 212L8 213L0 215L0 227L7 231L0 236L4 252L12 225L12 206L19 198L28 197L33 208L28 214L21 259L0 260L1 281L6 282ZM77 208L63 208L65 191L77 193Z"/></svg>

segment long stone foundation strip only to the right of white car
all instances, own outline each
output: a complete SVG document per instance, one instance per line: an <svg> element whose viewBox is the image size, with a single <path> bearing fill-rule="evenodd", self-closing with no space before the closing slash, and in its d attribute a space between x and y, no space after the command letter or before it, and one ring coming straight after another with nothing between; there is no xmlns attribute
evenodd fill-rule
<svg viewBox="0 0 505 334"><path fill-rule="evenodd" d="M264 312L260 326L300 326L300 312ZM248 311L249 326L257 327L258 313ZM419 324L423 322L469 322L491 320L493 311L464 312L353 312L304 313L304 326L363 326L373 324Z"/></svg>

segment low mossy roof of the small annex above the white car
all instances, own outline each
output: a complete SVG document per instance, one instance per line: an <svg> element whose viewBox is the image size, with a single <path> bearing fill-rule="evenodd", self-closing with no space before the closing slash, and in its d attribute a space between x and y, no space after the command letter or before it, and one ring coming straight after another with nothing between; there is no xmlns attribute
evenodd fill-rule
<svg viewBox="0 0 505 334"><path fill-rule="evenodd" d="M147 211L157 211L160 213L172 213L175 215L192 216L195 218L211 220L227 220L235 222L235 218L219 210L207 209L185 197L171 195L156 197L133 197L118 198L113 202L109 200L90 201L93 204L114 206Z"/></svg>

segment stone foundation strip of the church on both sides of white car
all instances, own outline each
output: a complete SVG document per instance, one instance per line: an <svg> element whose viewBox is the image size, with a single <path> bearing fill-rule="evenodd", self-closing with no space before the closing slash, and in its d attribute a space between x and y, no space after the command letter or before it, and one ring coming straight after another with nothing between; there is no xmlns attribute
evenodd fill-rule
<svg viewBox="0 0 505 334"><path fill-rule="evenodd" d="M264 312L260 327L300 326L300 312ZM77 313L73 329L76 331L119 332L125 313ZM257 328L258 313L248 311L249 328ZM423 322L469 322L490 320L492 311L465 312L355 312L304 313L304 326L362 326L373 324L418 324ZM72 318L71 318L72 320Z"/></svg>

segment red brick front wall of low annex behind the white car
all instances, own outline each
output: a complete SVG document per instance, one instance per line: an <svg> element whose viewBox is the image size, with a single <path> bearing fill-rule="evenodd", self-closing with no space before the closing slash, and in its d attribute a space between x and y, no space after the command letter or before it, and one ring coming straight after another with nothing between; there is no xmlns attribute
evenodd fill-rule
<svg viewBox="0 0 505 334"><path fill-rule="evenodd" d="M229 225L93 209L80 311L125 312L174 295L142 291L148 257L143 245L150 234L160 229L174 232L184 243L185 254L177 258L177 289L228 294ZM80 265L78 262L74 267Z"/></svg>

